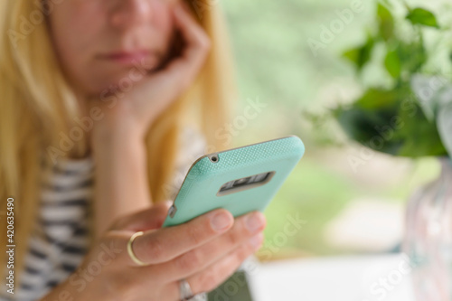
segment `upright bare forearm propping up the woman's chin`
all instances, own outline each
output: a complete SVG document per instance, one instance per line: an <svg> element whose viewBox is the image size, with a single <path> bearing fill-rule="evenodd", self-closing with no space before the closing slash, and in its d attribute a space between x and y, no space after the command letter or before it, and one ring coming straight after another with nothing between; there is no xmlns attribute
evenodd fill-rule
<svg viewBox="0 0 452 301"><path fill-rule="evenodd" d="M118 216L145 209L150 205L146 172L146 147L134 135L95 139L96 237L108 229Z"/></svg>

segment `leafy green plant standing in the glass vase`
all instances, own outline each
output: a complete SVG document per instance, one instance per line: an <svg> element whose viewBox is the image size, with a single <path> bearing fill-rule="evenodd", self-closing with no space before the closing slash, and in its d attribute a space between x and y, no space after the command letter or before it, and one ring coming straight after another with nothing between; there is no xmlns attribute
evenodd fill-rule
<svg viewBox="0 0 452 301"><path fill-rule="evenodd" d="M441 39L449 29L426 9L403 8L400 18L389 4L378 2L375 29L367 30L362 45L343 54L359 80L373 63L384 68L390 84L373 85L331 113L347 136L374 150L409 157L447 155L447 150L452 155L452 84L428 70L435 53L426 42L426 34ZM385 53L379 61L375 52L381 49Z"/></svg>

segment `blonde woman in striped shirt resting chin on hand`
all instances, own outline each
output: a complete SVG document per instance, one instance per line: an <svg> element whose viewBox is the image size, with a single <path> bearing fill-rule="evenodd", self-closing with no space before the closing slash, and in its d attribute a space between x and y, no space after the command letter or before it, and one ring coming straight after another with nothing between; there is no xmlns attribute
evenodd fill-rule
<svg viewBox="0 0 452 301"><path fill-rule="evenodd" d="M228 45L206 5L0 4L0 202L14 203L2 229L14 221L16 246L3 299L188 299L259 249L259 212L161 229L188 156L183 129L200 128L209 152L224 147Z"/></svg>

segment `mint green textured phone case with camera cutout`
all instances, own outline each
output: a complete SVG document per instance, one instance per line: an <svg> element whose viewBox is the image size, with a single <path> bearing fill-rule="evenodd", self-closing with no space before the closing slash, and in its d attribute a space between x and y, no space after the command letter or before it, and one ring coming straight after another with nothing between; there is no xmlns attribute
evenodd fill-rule
<svg viewBox="0 0 452 301"><path fill-rule="evenodd" d="M190 221L217 208L224 208L234 216L263 212L304 153L301 139L287 136L203 155L185 176L164 227ZM266 183L236 193L220 192L225 183L263 173L271 173Z"/></svg>

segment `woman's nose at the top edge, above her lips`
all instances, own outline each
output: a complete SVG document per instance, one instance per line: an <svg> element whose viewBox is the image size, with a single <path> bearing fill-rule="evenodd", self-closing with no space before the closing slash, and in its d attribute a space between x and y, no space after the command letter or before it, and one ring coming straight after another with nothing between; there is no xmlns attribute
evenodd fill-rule
<svg viewBox="0 0 452 301"><path fill-rule="evenodd" d="M110 22L115 27L124 28L150 22L152 14L152 1L118 0L111 8Z"/></svg>

